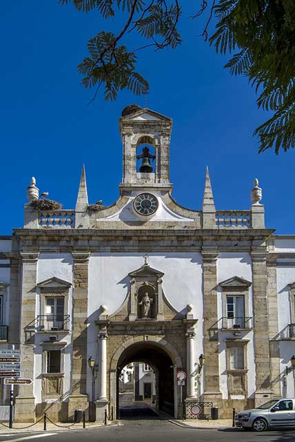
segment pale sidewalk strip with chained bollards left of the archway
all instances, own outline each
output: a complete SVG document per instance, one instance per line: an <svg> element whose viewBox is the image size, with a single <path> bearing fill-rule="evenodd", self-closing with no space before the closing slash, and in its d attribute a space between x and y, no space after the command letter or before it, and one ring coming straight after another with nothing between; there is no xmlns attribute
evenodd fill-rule
<svg viewBox="0 0 295 442"><path fill-rule="evenodd" d="M8 422L3 422L5 425L8 425ZM29 425L32 425L30 423L13 423L13 428L7 428L4 425L1 425L0 423L0 435L2 434L12 434L12 433L28 433L28 432L44 432L43 430L43 421L36 423L35 425L32 425L29 427ZM83 428L83 423L75 423L72 425L71 423L61 423L57 422L57 425L60 425L57 427L51 422L46 423L46 431L50 433L55 433L59 431L65 431L65 430L87 430L90 428L98 428L98 427L105 427L110 425L118 425L117 421L108 422L108 425L104 425L103 423L99 422L86 422L85 423L85 429ZM27 428L25 428L27 427Z"/></svg>

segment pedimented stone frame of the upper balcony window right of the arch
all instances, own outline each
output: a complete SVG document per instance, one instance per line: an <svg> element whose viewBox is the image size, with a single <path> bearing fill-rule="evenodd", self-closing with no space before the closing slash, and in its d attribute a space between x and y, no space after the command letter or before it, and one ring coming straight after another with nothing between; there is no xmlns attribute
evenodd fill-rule
<svg viewBox="0 0 295 442"><path fill-rule="evenodd" d="M240 278L239 276L234 276L225 281L219 282L219 287L221 287L221 302L222 302L222 318L227 316L227 296L243 296L244 298L244 318L250 318L250 287L252 282ZM232 328L224 327L221 324L221 329L225 330L243 330L243 328ZM250 323L249 327L245 329L252 329L253 325Z"/></svg>

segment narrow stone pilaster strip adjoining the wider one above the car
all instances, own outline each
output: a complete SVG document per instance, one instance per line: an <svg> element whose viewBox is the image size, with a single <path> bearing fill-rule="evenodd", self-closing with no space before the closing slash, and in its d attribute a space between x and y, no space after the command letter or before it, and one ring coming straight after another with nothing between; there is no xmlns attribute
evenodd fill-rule
<svg viewBox="0 0 295 442"><path fill-rule="evenodd" d="M269 313L270 385L274 396L281 397L280 342L278 336L278 288L276 284L276 258L267 258L267 294Z"/></svg>

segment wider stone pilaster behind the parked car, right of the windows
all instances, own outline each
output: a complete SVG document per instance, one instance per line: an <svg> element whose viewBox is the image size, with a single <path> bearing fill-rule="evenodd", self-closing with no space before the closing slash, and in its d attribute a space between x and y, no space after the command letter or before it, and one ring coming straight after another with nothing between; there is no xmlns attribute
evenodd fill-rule
<svg viewBox="0 0 295 442"><path fill-rule="evenodd" d="M267 266L265 253L252 252L253 314L256 392L255 406L267 402L270 391L269 309L267 302Z"/></svg>

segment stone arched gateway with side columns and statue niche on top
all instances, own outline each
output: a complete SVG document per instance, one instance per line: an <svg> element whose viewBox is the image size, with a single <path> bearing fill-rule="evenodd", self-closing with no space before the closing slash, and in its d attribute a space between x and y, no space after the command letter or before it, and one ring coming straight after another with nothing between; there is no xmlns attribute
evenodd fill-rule
<svg viewBox="0 0 295 442"><path fill-rule="evenodd" d="M191 341L196 320L190 306L176 311L163 293L164 274L145 264L129 273L130 289L118 311L107 316L103 308L96 321L99 336L99 398L96 417L114 407L119 417L119 375L125 365L143 362L156 373L156 407L179 415L180 387L176 372L194 371ZM183 397L195 397L194 376L188 376Z"/></svg>

